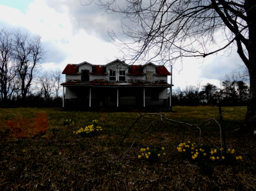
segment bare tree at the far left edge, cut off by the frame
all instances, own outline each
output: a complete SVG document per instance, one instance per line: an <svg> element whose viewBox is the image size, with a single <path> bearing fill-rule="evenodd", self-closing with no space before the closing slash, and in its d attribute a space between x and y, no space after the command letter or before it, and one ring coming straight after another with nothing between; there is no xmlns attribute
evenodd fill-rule
<svg viewBox="0 0 256 191"><path fill-rule="evenodd" d="M16 70L12 62L12 44L12 33L2 29L0 31L0 91L3 101L9 100L14 90L12 81L16 75Z"/></svg>

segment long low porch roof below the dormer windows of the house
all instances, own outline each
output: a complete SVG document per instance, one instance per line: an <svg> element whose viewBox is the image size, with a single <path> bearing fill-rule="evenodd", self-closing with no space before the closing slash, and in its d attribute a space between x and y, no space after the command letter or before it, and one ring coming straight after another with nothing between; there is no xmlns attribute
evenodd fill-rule
<svg viewBox="0 0 256 191"><path fill-rule="evenodd" d="M62 86L98 86L98 87L172 87L167 83L111 83L111 82L65 82Z"/></svg>

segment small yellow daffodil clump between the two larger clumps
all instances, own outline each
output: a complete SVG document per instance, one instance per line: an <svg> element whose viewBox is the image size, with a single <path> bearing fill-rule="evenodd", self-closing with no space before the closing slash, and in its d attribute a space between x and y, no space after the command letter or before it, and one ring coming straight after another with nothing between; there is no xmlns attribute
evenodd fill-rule
<svg viewBox="0 0 256 191"><path fill-rule="evenodd" d="M138 155L139 159L148 159L151 163L157 162L160 157L165 156L164 147L161 148L160 152L157 152L155 149L150 148L141 148L140 154Z"/></svg>

